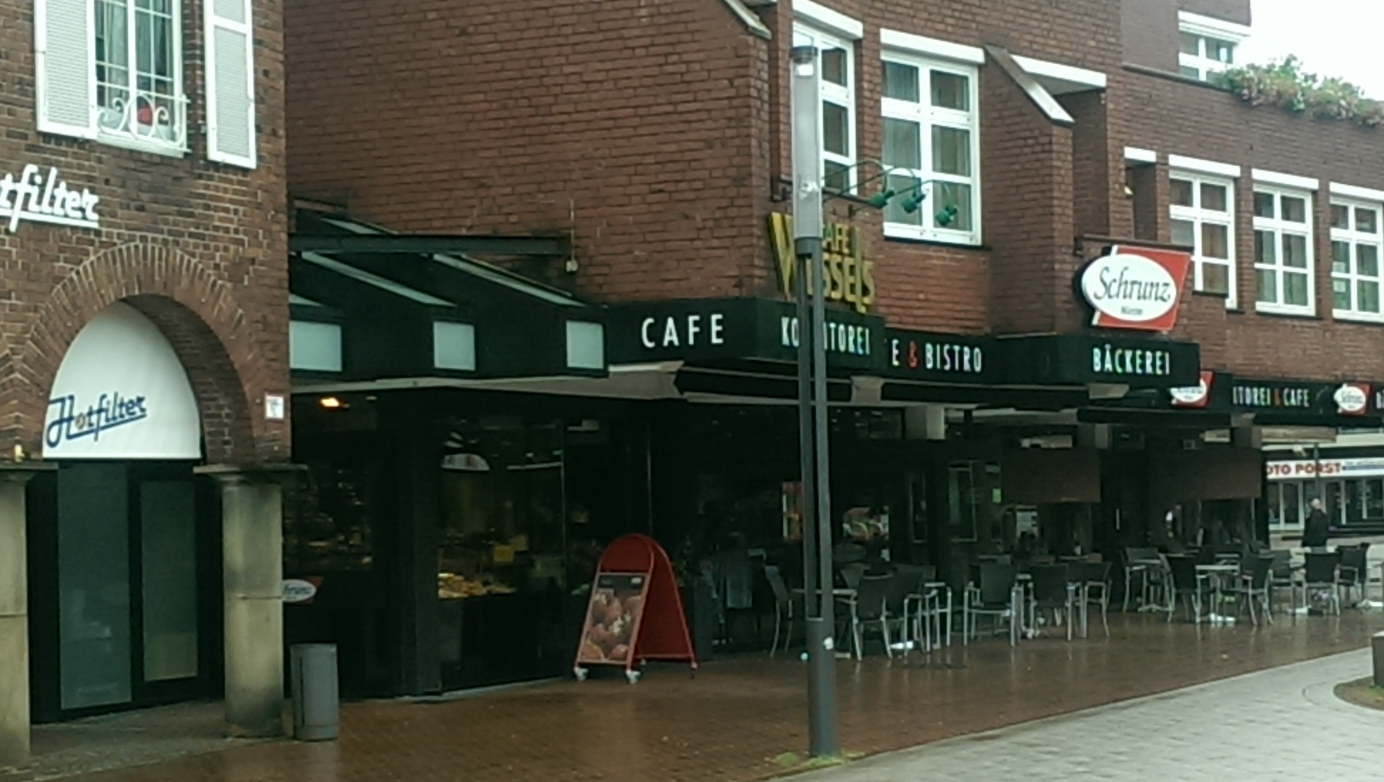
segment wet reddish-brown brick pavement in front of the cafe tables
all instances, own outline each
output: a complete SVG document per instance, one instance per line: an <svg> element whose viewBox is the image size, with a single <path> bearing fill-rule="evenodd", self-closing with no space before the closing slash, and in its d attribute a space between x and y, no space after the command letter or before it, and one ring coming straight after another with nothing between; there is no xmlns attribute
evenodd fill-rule
<svg viewBox="0 0 1384 782"><path fill-rule="evenodd" d="M1002 639L952 646L925 663L883 655L837 667L841 745L883 753L1168 692L1354 651L1384 630L1384 612L1287 617L1254 628L1167 624L1113 615L1111 638ZM329 743L221 746L184 757L83 774L91 782L740 782L785 771L805 749L805 667L796 659L721 659L692 678L653 666L631 686L592 675L480 698L343 707ZM1349 678L1359 678L1359 674ZM1200 720L1186 711L1178 720ZM61 727L71 729L71 727ZM1163 725L1146 725L1160 731ZM42 728L36 747L43 752ZM119 754L119 750L112 750ZM33 779L0 774L0 782ZM137 760L137 763L143 763ZM1020 767L1014 767L1020 768Z"/></svg>

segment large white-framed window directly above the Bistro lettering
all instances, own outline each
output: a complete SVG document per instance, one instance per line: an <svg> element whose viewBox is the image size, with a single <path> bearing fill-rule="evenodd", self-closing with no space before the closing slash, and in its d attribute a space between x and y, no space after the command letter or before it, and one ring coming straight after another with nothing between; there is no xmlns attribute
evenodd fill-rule
<svg viewBox="0 0 1384 782"><path fill-rule="evenodd" d="M922 183L926 195L920 205L890 201L884 234L978 244L977 69L886 51L883 73L883 163L894 169L889 187L909 194Z"/></svg>

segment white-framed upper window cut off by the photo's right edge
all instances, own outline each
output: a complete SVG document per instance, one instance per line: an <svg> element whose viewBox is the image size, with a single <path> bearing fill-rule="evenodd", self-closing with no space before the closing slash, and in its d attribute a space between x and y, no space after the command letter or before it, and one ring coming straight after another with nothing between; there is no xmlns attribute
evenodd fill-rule
<svg viewBox="0 0 1384 782"><path fill-rule="evenodd" d="M1331 307L1336 317L1384 320L1380 309L1380 205L1331 202Z"/></svg>

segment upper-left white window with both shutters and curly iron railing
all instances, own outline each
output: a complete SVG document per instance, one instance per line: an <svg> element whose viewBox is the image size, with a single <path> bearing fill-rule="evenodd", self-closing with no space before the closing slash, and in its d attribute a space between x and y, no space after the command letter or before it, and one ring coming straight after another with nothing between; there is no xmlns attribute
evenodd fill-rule
<svg viewBox="0 0 1384 782"><path fill-rule="evenodd" d="M255 167L251 0L202 0L212 161ZM181 0L35 0L40 131L180 155L188 148Z"/></svg>

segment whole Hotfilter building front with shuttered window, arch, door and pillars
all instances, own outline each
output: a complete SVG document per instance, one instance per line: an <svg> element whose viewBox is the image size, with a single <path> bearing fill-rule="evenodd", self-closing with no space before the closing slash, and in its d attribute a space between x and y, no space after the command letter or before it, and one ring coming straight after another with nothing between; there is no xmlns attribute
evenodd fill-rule
<svg viewBox="0 0 1384 782"><path fill-rule="evenodd" d="M0 3L0 765L24 764L30 710L210 695L223 669L233 724L262 731L266 692L278 709L277 567L227 565L223 587L217 551L277 562L281 26L271 0ZM155 364L82 340L170 358L140 376ZM197 468L224 479L226 502ZM158 579L191 602L156 603Z"/></svg>

